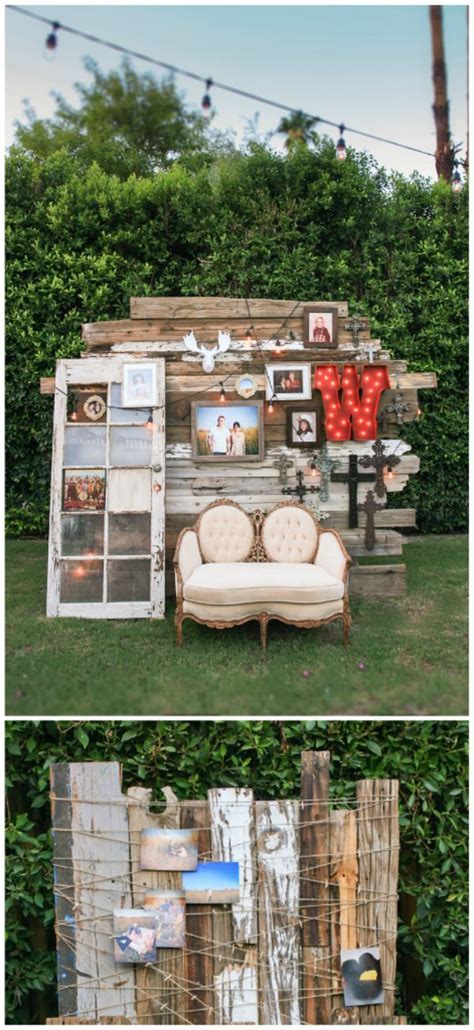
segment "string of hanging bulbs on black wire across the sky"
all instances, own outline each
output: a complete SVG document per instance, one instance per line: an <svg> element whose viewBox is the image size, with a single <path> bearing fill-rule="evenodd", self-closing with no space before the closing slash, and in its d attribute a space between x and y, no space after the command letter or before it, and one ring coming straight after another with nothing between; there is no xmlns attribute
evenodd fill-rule
<svg viewBox="0 0 474 1030"><path fill-rule="evenodd" d="M295 109L289 106L287 104L280 104L275 100L270 100L267 97L261 97L258 94L249 93L246 90L240 90L237 87L229 85L226 82L215 81L209 76L205 77L203 75L198 75L196 72L189 71L188 69L184 68L179 68L176 65L169 64L166 61L160 61L158 58L153 58L147 54L140 54L137 50L132 50L129 47L123 46L120 43L113 43L109 39L103 39L100 36L95 36L92 35L91 33L82 32L81 30L75 29L72 26L64 25L61 22L56 22L56 21L52 22L49 19L43 18L41 14L37 14L31 10L27 10L25 7L18 7L15 5L8 4L8 9L13 10L19 14L25 14L27 18L32 18L37 22L41 22L42 24L49 26L49 32L47 33L47 36L45 38L44 45L46 50L48 50L50 54L54 53L58 47L58 33L61 30L62 32L68 32L73 36L78 36L81 39L87 39L89 42L97 43L100 46L107 46L109 49L116 50L120 54L124 54L128 57L137 58L138 60L145 61L148 64L157 65L159 68L164 68L166 71L169 71L172 74L183 75L187 78L194 79L195 81L204 82L205 92L203 94L203 98L201 101L201 107L206 117L209 117L212 110L212 97L211 97L212 89L224 90L227 93L232 93L236 96L244 97L247 100L255 100L260 104L266 104L267 106L274 107L278 110L283 110L290 113L296 113ZM349 128L348 126L345 126L343 122L341 123L331 122L329 118L324 118L320 115L316 114L309 114L307 111L303 110L299 110L298 114L301 114L303 115L303 117L311 119L313 123L320 123L321 125L331 126L333 129L339 130L339 138L336 143L336 158L339 161L344 161L347 156L346 143L344 139L345 132L350 132L352 135L357 136L364 136L366 139L373 139L379 143L387 143L391 146L397 146L404 150L411 150L415 153L422 153L425 157L428 158L433 158L433 159L435 158L435 154L432 153L430 150L421 150L419 147L410 146L407 143L400 143L398 140L387 139L383 136L377 136L374 133L363 132L361 129ZM459 193L463 188L463 180L461 178L461 174L459 171L458 160L454 161L454 171L452 174L451 186L454 193Z"/></svg>

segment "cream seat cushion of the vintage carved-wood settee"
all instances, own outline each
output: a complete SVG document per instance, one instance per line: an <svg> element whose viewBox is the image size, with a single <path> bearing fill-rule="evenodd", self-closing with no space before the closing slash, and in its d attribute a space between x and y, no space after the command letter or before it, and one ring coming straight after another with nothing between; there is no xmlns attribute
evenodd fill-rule
<svg viewBox="0 0 474 1030"><path fill-rule="evenodd" d="M199 565L184 583L184 600L200 605L340 600L342 580L307 562L219 561Z"/></svg>

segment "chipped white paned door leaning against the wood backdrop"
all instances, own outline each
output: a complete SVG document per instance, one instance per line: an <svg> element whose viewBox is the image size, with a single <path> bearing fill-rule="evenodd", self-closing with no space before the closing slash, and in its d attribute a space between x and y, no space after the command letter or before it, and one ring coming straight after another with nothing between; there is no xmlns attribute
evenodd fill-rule
<svg viewBox="0 0 474 1030"><path fill-rule="evenodd" d="M126 355L60 360L53 441L48 616L163 618L165 362L156 405L122 404Z"/></svg>

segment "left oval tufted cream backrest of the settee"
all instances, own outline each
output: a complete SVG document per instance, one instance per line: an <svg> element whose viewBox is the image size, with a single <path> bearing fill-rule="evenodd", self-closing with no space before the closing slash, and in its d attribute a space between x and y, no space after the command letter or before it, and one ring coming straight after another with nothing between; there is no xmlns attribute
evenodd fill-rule
<svg viewBox="0 0 474 1030"><path fill-rule="evenodd" d="M234 505L215 505L204 511L198 525L205 561L245 561L253 544L248 515Z"/></svg>

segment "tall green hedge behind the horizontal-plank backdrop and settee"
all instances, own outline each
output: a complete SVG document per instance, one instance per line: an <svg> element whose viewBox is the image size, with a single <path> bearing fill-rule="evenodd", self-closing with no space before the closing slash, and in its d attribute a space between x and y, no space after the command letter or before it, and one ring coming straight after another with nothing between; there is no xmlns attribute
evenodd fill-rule
<svg viewBox="0 0 474 1030"><path fill-rule="evenodd" d="M7 528L47 526L53 401L40 376L80 353L80 323L164 295L348 300L413 369L434 370L406 439L421 458L402 504L428 531L467 524L467 191L387 176L332 143L262 146L126 181L66 151L7 160ZM397 496L397 505L400 499Z"/></svg>

